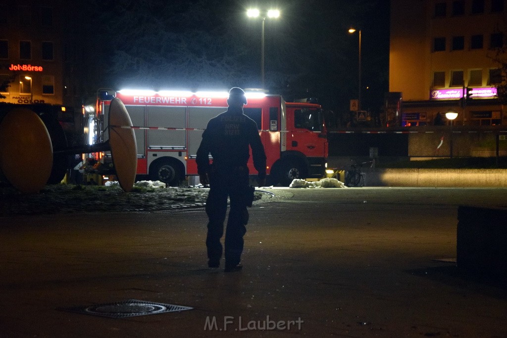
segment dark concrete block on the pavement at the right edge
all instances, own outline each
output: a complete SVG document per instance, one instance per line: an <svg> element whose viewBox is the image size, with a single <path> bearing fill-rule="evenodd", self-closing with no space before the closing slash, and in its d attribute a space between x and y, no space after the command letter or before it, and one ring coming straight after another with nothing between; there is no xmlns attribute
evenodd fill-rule
<svg viewBox="0 0 507 338"><path fill-rule="evenodd" d="M507 209L458 208L456 262L467 271L507 279Z"/></svg>

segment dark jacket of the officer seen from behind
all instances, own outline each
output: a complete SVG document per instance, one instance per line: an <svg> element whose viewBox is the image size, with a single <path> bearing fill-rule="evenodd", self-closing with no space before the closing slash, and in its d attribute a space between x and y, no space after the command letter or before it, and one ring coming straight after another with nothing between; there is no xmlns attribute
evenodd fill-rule
<svg viewBox="0 0 507 338"><path fill-rule="evenodd" d="M209 171L208 154L213 157L213 166L222 172L235 167L246 167L249 149L252 149L253 166L259 177L266 176L266 154L255 121L239 111L227 111L209 120L202 134L197 150L197 172L199 175Z"/></svg>

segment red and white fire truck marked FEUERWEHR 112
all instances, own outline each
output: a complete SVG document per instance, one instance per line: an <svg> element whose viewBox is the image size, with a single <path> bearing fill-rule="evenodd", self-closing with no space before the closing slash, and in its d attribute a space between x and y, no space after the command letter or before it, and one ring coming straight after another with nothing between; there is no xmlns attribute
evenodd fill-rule
<svg viewBox="0 0 507 338"><path fill-rule="evenodd" d="M321 178L328 158L328 140L320 105L285 102L280 95L245 91L244 114L259 128L267 157L267 182L289 185L295 178ZM99 91L97 135L105 142L108 106L114 97L125 104L137 142L137 175L178 185L186 175L197 175L196 153L208 121L227 109L227 91L183 92ZM107 158L107 154L105 155ZM210 158L210 160L212 160ZM257 174L250 156L248 167Z"/></svg>

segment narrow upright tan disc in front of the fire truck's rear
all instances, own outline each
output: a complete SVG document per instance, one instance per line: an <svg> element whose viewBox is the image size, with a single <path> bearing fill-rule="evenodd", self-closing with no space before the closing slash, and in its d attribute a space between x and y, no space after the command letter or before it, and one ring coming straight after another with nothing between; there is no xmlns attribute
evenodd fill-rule
<svg viewBox="0 0 507 338"><path fill-rule="evenodd" d="M109 107L109 145L118 182L126 192L132 190L137 170L137 143L127 108L119 98L114 98Z"/></svg>

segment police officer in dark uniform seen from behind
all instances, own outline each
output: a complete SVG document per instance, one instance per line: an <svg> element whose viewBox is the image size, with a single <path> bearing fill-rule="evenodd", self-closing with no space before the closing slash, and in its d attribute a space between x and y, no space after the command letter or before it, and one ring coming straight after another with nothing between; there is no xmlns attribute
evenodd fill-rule
<svg viewBox="0 0 507 338"><path fill-rule="evenodd" d="M259 186L266 181L266 154L255 121L243 114L245 92L231 88L227 111L209 120L197 151L197 172L202 184L209 184L206 200L208 267L219 268L222 259L227 197L231 202L225 235L225 272L239 271L243 236L248 222L247 190L249 148L258 171ZM213 157L209 163L208 155Z"/></svg>

